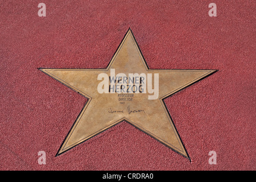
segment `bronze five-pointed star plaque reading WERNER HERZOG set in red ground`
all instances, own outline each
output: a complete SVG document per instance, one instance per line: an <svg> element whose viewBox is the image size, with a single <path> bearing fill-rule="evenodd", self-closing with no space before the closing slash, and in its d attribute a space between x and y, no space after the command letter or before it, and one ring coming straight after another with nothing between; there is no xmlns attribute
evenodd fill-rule
<svg viewBox="0 0 256 182"><path fill-rule="evenodd" d="M148 100L148 93L134 93L132 101L123 103L119 101L118 93L99 93L97 86L101 81L97 80L97 77L100 73L110 76L110 69L115 69L115 74L125 73L127 76L129 73L152 73L152 75L158 73L158 99ZM57 155L121 121L126 121L186 158L189 156L163 99L215 72L215 70L149 69L130 28L106 69L40 68L40 70L89 99Z"/></svg>

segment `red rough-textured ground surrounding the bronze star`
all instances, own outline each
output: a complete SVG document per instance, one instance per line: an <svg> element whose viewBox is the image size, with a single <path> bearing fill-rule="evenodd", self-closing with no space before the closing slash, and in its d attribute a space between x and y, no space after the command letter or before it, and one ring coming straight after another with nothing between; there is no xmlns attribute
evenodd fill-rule
<svg viewBox="0 0 256 182"><path fill-rule="evenodd" d="M255 170L255 1L211 2L0 1L0 169ZM166 99L191 162L126 122L55 157L86 99L36 68L105 68L129 27L152 69L219 70Z"/></svg>

